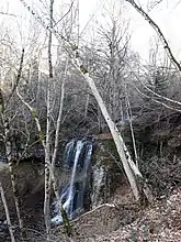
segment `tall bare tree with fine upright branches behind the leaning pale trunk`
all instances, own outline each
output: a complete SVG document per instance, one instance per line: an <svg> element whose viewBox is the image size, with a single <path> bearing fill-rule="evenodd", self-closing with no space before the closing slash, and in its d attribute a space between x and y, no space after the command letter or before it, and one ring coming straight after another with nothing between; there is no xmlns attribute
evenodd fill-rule
<svg viewBox="0 0 181 242"><path fill-rule="evenodd" d="M108 18L108 15L106 15ZM128 23L122 20L122 12L117 15L110 13L109 28L101 26L99 40L101 40L99 53L102 56L104 67L104 78L100 78L101 91L112 119L124 119L121 117L124 106L124 82L126 59L128 58Z"/></svg>

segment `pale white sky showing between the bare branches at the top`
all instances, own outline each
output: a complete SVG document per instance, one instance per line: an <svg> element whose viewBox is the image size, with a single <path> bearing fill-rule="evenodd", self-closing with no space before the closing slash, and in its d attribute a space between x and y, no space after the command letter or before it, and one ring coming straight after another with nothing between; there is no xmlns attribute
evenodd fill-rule
<svg viewBox="0 0 181 242"><path fill-rule="evenodd" d="M102 6L108 1L111 2L112 0L79 0L81 26L84 26L93 13L95 13L95 15L99 18ZM26 2L37 3L39 0L26 0ZM44 0L44 2L48 2L48 0ZM55 2L63 1L55 0ZM139 3L146 2L148 2L148 0L139 0ZM127 18L131 19L131 29L133 32L132 46L134 51L138 52L144 59L148 59L150 37L155 34L155 31L149 26L148 23L145 22L145 20L136 12L136 10L133 9L129 3L126 3L126 14ZM19 0L0 0L0 11L7 11L9 13L19 15L21 14L23 16L29 15ZM174 55L181 59L181 1L162 0L162 3L149 12L149 14L162 30L172 47ZM11 19L13 19L13 16ZM0 15L0 21L10 22L10 18Z"/></svg>

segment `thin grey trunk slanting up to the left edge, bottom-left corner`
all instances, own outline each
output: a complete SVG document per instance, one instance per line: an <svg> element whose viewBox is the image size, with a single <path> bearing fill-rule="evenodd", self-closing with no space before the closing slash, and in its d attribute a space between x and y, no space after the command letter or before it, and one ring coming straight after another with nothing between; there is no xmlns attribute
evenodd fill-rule
<svg viewBox="0 0 181 242"><path fill-rule="evenodd" d="M2 187L1 183L0 183L0 194L1 194L3 207L5 210L5 217L7 217L8 228L9 228L9 232L10 232L10 237L11 237L11 242L15 242L15 238L14 238L14 233L13 233L13 229L12 229L12 224L11 224L11 220L10 220L10 213L9 213L9 209L8 209L8 205L7 205L7 199L5 199L5 195L4 195L3 187Z"/></svg>

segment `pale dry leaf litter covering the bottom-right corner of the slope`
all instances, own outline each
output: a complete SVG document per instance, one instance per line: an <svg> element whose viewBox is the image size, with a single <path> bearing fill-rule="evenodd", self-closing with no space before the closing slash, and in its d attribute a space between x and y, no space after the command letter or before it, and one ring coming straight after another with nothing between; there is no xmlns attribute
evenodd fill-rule
<svg viewBox="0 0 181 242"><path fill-rule="evenodd" d="M176 189L168 199L140 210L131 224L121 227L111 234L100 235L94 241L179 242L181 241L180 201L181 189Z"/></svg>

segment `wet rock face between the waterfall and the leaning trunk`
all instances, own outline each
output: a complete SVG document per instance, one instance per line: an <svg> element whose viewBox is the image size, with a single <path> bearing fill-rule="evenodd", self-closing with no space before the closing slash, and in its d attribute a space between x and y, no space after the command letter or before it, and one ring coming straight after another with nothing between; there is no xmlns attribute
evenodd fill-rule
<svg viewBox="0 0 181 242"><path fill-rule="evenodd" d="M121 161L112 139L99 140L92 164L92 208L110 202L118 187L127 187Z"/></svg>

